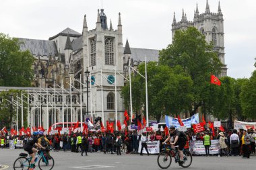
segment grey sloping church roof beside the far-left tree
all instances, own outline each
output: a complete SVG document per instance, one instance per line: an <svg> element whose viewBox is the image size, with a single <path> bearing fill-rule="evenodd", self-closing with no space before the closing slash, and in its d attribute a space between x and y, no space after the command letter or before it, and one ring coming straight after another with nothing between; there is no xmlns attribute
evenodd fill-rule
<svg viewBox="0 0 256 170"><path fill-rule="evenodd" d="M49 40L34 40L28 38L18 38L20 42L20 50L29 50L33 55L40 56L57 56L58 50L55 42Z"/></svg>

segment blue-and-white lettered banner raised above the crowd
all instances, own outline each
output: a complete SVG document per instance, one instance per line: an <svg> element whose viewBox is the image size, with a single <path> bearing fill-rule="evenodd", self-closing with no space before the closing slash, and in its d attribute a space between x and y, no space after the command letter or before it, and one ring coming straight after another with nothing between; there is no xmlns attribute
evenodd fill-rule
<svg viewBox="0 0 256 170"><path fill-rule="evenodd" d="M187 128L191 128L191 124L199 124L199 114L194 114L191 118L181 120ZM177 118L172 118L171 116L165 116L166 126L175 126L175 128L179 128L181 125L178 122Z"/></svg>

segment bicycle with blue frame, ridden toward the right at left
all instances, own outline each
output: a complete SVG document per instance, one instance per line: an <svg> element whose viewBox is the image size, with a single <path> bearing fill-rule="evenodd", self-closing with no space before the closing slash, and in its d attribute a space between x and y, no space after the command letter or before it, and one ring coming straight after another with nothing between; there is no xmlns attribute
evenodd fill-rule
<svg viewBox="0 0 256 170"><path fill-rule="evenodd" d="M30 161L32 157L28 158L28 154L20 153L18 159L16 159L13 163L13 169L29 169L30 168ZM39 160L39 161L38 161ZM44 151L40 150L36 153L36 159L34 160L34 167L36 167L36 162L38 161L38 167L41 170L50 170L54 167L54 159L51 156L46 156Z"/></svg>

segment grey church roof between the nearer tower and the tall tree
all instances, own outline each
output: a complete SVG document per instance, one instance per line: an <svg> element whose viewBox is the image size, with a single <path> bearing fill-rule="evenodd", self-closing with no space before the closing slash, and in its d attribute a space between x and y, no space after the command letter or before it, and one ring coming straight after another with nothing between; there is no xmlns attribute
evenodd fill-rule
<svg viewBox="0 0 256 170"><path fill-rule="evenodd" d="M145 61L145 56L148 61L157 61L160 50L146 49L146 48L131 48L131 57L134 61Z"/></svg>

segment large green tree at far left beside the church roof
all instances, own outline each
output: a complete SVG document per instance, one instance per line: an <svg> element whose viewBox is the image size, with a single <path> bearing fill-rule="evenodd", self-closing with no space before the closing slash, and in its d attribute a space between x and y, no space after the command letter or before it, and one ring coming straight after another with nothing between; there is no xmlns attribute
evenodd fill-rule
<svg viewBox="0 0 256 170"><path fill-rule="evenodd" d="M0 34L0 86L30 87L34 57L20 51L17 38Z"/></svg>

